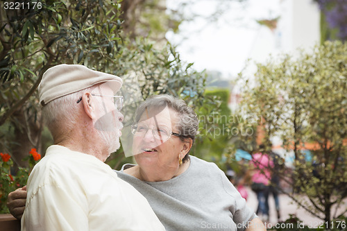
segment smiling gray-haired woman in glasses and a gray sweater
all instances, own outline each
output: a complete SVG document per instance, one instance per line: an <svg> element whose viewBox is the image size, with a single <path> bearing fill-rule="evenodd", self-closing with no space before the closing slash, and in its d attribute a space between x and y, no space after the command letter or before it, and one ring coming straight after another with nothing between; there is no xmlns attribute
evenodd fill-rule
<svg viewBox="0 0 347 231"><path fill-rule="evenodd" d="M117 174L146 197L166 230L266 230L216 164L189 156L198 119L184 101L152 96L136 121L137 165ZM13 208L15 196L9 197Z"/></svg>

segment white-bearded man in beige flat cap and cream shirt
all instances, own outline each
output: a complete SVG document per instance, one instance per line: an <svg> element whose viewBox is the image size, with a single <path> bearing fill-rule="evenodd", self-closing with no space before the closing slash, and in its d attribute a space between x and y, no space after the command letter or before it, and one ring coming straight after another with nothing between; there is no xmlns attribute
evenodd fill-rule
<svg viewBox="0 0 347 231"><path fill-rule="evenodd" d="M164 230L147 200L103 162L119 148L118 76L48 69L38 88L54 145L28 178L22 230Z"/></svg>

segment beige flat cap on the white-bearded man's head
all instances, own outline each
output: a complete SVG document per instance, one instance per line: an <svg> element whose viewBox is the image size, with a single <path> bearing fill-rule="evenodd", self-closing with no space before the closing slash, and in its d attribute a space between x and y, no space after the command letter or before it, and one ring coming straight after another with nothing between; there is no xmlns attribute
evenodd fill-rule
<svg viewBox="0 0 347 231"><path fill-rule="evenodd" d="M56 65L42 76L38 87L40 103L44 106L61 96L106 82L113 92L117 92L123 83L118 76L93 71L83 65Z"/></svg>

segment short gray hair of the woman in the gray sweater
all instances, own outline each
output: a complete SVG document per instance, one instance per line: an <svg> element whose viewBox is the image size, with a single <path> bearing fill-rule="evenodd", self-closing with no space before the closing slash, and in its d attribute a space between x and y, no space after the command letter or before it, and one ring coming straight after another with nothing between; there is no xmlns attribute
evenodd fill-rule
<svg viewBox="0 0 347 231"><path fill-rule="evenodd" d="M184 141L185 139L190 138L194 143L195 136L198 132L198 116L182 99L177 99L168 94L150 96L146 101L144 101L144 103L139 105L139 108L137 108L135 120L136 122L139 121L142 114L148 108L161 110L166 106L178 113L179 121L176 125L176 129L178 129L180 139ZM189 155L186 155L185 158L183 158L183 162L188 159Z"/></svg>

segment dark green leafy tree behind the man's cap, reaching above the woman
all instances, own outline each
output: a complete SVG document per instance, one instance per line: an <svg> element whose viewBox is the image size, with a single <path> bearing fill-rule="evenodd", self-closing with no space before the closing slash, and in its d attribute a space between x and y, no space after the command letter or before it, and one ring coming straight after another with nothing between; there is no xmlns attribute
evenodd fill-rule
<svg viewBox="0 0 347 231"><path fill-rule="evenodd" d="M168 93L193 107L213 104L203 97L205 76L181 62L174 47L155 49L143 37L122 35L126 2L43 0L34 6L24 1L25 7L15 10L1 1L0 148L17 165L25 165L21 160L31 148L44 153L36 89L44 71L60 63L117 76L137 71L144 76L145 97Z"/></svg>

